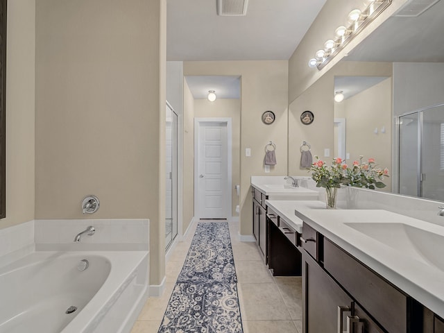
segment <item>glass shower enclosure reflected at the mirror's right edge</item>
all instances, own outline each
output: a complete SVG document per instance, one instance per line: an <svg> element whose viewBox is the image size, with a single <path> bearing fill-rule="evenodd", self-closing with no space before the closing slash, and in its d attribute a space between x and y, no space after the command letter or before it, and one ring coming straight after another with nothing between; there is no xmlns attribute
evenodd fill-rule
<svg viewBox="0 0 444 333"><path fill-rule="evenodd" d="M444 104L398 117L398 193L444 200Z"/></svg>

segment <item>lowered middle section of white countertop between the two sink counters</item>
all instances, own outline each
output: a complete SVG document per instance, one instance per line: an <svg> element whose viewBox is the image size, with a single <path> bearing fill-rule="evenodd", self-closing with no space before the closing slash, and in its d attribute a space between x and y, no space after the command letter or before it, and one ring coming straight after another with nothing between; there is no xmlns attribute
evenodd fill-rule
<svg viewBox="0 0 444 333"><path fill-rule="evenodd" d="M288 223L294 230L302 234L302 220L294 214L296 208L325 208L325 203L318 200L266 200L266 205Z"/></svg>

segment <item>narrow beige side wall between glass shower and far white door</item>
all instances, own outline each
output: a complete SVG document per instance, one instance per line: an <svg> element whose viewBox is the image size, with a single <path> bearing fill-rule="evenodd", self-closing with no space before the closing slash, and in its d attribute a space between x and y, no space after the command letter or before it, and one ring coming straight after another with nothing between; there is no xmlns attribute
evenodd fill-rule
<svg viewBox="0 0 444 333"><path fill-rule="evenodd" d="M185 79L183 86L182 230L186 232L194 217L194 97Z"/></svg>

